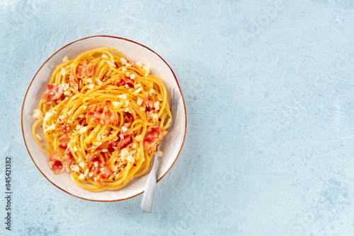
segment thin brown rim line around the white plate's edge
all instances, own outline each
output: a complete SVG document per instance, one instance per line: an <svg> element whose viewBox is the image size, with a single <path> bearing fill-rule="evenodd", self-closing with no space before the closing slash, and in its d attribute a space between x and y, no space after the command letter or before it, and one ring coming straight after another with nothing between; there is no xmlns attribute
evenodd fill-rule
<svg viewBox="0 0 354 236"><path fill-rule="evenodd" d="M80 39L80 40L76 40L76 41L74 41L74 42L70 42L69 44L65 45L64 47L68 47L69 45L72 45L72 44L75 43L75 42L79 42L79 41L82 41L82 40L87 40L87 39L92 38L92 37L113 37L113 38L116 38L116 39L126 40L126 41L128 41L128 42L133 42L133 43L135 43L135 44L137 44L137 45L140 45L140 46L142 46L142 47L145 47L145 48L149 49L151 52L153 52L153 53L156 54L159 58L161 58L161 60L164 61L164 63L165 63L167 66L169 66L169 64L167 64L167 62L166 62L159 54L157 54L156 52L154 52L154 51L153 51L152 49L150 49L149 47L144 46L144 45L140 44L139 42L135 42L135 41L132 41L132 40L128 40L128 39L126 39L126 38L124 38L124 37L115 37L115 36L110 36L110 35L94 35L94 36L90 36L90 37L84 37L84 38L82 38L82 39ZM64 49L64 47L58 49L55 53L52 54L52 56L50 56L47 60L45 60L45 62L42 64L42 66L40 66L40 69L42 69L42 67L47 63L47 61L48 61L50 58L52 58L55 54L57 54L57 52L59 52L60 50ZM38 72L40 71L40 69L38 69L38 71L35 73L35 76L37 76L37 74L38 74ZM184 106L184 110L185 110L185 102L184 102L184 98L183 98L183 94L182 94L181 87L180 87L180 85L179 85L179 83L178 83L178 80L177 80L177 78L176 78L175 73L174 73L173 70L171 69L171 66L169 66L169 69L170 69L171 72L173 73L173 77L174 77L175 80L176 80L176 83L177 83L177 85L178 85L178 89L179 89L180 92L181 92L181 96L182 96L182 100L183 100L183 106ZM30 85L32 85L32 83L33 83L33 81L34 81L34 79L35 79L35 76L33 76L32 81L30 81ZM25 98L27 97L27 93L28 93L28 90L30 89L30 85L28 85L28 88L27 88L27 90L26 90L26 92L25 92ZM25 98L23 98L23 103L22 103L22 107L21 107L21 129L22 129L23 141L25 141L25 134L23 133L23 105L24 105L24 103L25 103ZM176 163L176 160L178 159L178 156L180 155L180 153L181 153L181 151L182 151L183 144L184 144L184 141L185 141L185 134L186 134L186 133L187 133L187 112L186 112L186 110L185 110L185 132L184 132L183 142L182 142L181 149L180 149L180 151L178 152L178 155L176 156L176 159L173 161L171 167L173 167L173 165ZM26 142L25 142L25 148L27 149L28 154L30 155L30 151L28 150L28 147L27 147L27 143L26 143ZM30 158L32 159L33 163L35 164L35 160L33 160L32 155L30 155ZM35 164L35 167L37 167L37 169L40 171L40 168L39 168L36 164ZM165 175L171 170L171 167L169 167L169 170L167 170L166 173L165 173L163 176L161 176L161 178L159 178L159 180L157 180L157 182L159 182L163 177L165 177ZM40 171L40 172L42 173L42 175L43 175L51 184L53 184L53 185L54 185L55 187L57 187L58 189L60 189L60 190L62 190L62 191L64 191L64 192L66 192L66 193L69 194L69 195L75 196L76 198L84 199L84 200L87 200L87 201L101 201L101 202L123 201L123 200L127 200L127 199L132 199L133 197L138 196L138 195L140 195L140 194L142 194L142 193L144 192L144 191L142 191L141 193L135 194L134 196L130 196L130 197L126 198L126 199L118 199L118 200L93 200L93 199L85 199L85 198L83 198L83 197L81 197L81 196L76 196L76 195L74 195L74 194L70 194L68 191L66 191L66 190L64 190L64 189L62 189L62 188L60 188L60 187L58 187L55 183L51 182L50 179L48 179L47 176L45 176L45 174L43 174L42 171ZM109 190L109 191L110 191L110 190ZM117 190L112 190L112 191L118 191L118 189L117 189Z"/></svg>

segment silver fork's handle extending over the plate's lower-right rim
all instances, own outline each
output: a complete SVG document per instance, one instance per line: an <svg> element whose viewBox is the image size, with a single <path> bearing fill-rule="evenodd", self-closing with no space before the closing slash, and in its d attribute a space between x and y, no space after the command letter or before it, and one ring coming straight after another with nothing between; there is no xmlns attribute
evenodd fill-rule
<svg viewBox="0 0 354 236"><path fill-rule="evenodd" d="M156 189L156 163L157 157L159 155L160 145L157 146L154 165L152 166L152 171L147 178L147 185L145 187L144 195L142 196L142 205L140 206L144 213L151 213L152 206L154 205L154 196Z"/></svg>

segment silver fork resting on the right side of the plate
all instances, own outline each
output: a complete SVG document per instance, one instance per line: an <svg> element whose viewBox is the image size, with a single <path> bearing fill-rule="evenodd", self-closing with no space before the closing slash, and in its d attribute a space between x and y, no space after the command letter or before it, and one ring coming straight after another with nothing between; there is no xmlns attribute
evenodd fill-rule
<svg viewBox="0 0 354 236"><path fill-rule="evenodd" d="M171 88L170 88L170 95L171 95ZM175 124L175 117L176 117L176 96L175 96L175 89L173 88L173 98L169 100L169 107L171 109L172 113L172 121L169 127L167 127L166 131L169 131L172 129L172 127ZM152 212L152 206L154 205L154 195L155 195L155 189L156 189L156 163L157 163L157 157L159 156L159 151L160 151L160 144L156 148L156 153L155 153L155 158L154 158L154 165L152 165L152 171L149 174L149 177L147 178L147 185L145 187L144 195L142 196L142 205L140 208L144 213L151 213Z"/></svg>

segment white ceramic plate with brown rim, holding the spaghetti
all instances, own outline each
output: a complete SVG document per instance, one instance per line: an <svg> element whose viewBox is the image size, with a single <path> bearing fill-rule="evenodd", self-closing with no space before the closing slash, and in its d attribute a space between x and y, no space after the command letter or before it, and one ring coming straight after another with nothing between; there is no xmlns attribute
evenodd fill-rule
<svg viewBox="0 0 354 236"><path fill-rule="evenodd" d="M35 118L33 118L33 110L38 107L38 102L45 91L45 85L49 83L50 76L53 69L55 69L55 66L62 62L64 56L72 59L79 56L82 52L97 47L113 47L120 50L120 52L122 52L122 54L124 54L130 61L141 61L143 64L149 65L151 73L155 76L159 76L159 78L165 83L166 88L175 89L177 95L176 123L161 143L161 151L163 151L164 155L159 158L159 163L157 165L157 179L160 180L171 169L181 152L187 124L187 115L185 112L185 104L181 88L178 85L178 81L172 69L164 59L152 51L152 49L120 37L105 35L86 37L62 47L62 49L59 49L47 59L47 61L45 61L31 81L23 100L21 117L23 138L28 153L38 167L38 170L40 170L40 172L42 172L42 174L59 189L62 189L73 196L91 201L120 201L142 194L149 172L142 177L132 179L132 181L122 189L101 192L86 191L77 187L76 184L72 182L69 173L62 172L58 175L52 173L47 162L48 155L35 142L31 131L33 123L35 122Z"/></svg>

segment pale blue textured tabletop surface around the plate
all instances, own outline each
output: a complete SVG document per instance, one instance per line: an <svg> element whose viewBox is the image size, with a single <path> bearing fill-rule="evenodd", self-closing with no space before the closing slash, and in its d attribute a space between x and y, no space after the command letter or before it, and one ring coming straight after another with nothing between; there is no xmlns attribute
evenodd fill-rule
<svg viewBox="0 0 354 236"><path fill-rule="evenodd" d="M142 196L100 203L52 186L21 134L25 91L91 35L147 45L176 73L188 131ZM1 235L353 235L354 1L0 1Z"/></svg>

